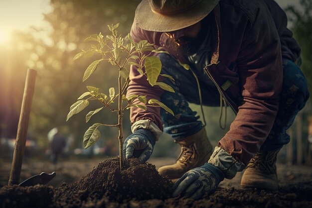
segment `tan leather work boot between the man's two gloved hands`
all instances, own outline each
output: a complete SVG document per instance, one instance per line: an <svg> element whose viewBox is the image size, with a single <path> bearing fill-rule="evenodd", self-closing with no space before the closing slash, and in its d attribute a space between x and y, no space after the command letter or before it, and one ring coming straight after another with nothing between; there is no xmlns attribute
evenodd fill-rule
<svg viewBox="0 0 312 208"><path fill-rule="evenodd" d="M181 146L181 153L176 163L158 169L160 175L168 176L172 181L181 178L190 169L202 166L209 160L212 154L212 146L208 140L205 128L191 136L174 142Z"/></svg>

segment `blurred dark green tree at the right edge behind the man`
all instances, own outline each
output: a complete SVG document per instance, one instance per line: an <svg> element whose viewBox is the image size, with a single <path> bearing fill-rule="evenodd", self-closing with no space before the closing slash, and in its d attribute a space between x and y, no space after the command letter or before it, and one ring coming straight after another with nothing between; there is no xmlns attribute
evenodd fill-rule
<svg viewBox="0 0 312 208"><path fill-rule="evenodd" d="M297 40L301 47L302 65L301 69L308 80L308 89L310 94L312 93L312 0L300 0L300 6L289 6L286 9L289 21L292 23L291 30L294 33L294 38ZM296 151L293 152L292 158L296 159L301 164L301 157L298 158L298 154L306 156L309 151L308 144L308 126L309 117L312 115L312 99L308 100L305 108L300 112L300 116L296 117L295 124L292 126L293 140L296 141ZM301 144L302 143L302 144ZM292 142L294 144L294 142ZM299 147L303 147L300 149ZM296 148L289 147L289 151L293 151ZM292 153L289 153L289 155ZM293 162L293 161L289 161Z"/></svg>

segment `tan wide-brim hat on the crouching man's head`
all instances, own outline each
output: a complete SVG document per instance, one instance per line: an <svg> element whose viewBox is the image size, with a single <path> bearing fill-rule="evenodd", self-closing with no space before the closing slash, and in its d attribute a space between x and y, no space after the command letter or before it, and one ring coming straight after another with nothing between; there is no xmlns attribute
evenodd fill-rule
<svg viewBox="0 0 312 208"><path fill-rule="evenodd" d="M135 24L144 30L170 32L196 24L219 0L142 0Z"/></svg>

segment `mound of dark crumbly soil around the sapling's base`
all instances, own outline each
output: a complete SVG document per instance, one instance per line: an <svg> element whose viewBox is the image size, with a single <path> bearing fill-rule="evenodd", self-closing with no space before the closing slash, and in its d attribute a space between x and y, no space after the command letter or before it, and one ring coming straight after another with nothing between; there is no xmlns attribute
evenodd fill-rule
<svg viewBox="0 0 312 208"><path fill-rule="evenodd" d="M138 159L125 161L120 171L119 158L101 162L89 174L70 185L65 190L96 193L100 198L108 197L113 201L129 199L149 200L167 199L172 194L173 184L158 174L152 164L141 164Z"/></svg>

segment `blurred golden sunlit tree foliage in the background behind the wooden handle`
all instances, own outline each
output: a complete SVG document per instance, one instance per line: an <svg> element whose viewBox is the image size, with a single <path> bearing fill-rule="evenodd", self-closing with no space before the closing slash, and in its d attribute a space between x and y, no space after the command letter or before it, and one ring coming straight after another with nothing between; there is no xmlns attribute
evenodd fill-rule
<svg viewBox="0 0 312 208"><path fill-rule="evenodd" d="M109 70L110 65L103 64L95 72L98 76L82 83L83 73L90 60L78 60L74 63L73 57L85 48L83 40L86 37L99 32L106 34L108 24L120 22L120 32L126 35L130 31L139 2L140 0L128 0L126 3L124 0L51 0L52 9L44 14L46 26L33 27L28 33L16 32L6 51L8 55L1 56L1 63L7 63L0 64L0 68L4 69L1 70L2 77L7 80L4 86L7 90L1 91L7 104L0 109L5 111L8 107L14 107L12 111L18 115L26 69L34 68L38 71L38 76L29 132L43 146L47 144L47 132L53 127L59 127L65 134L76 138L74 146L81 146L84 131L90 124L81 122L85 120L84 115L76 115L75 119L66 123L69 106L86 91L87 85L116 87L117 83L111 83L110 75L118 72ZM11 57L11 60L5 57ZM13 57L18 57L18 61ZM16 107L11 106L12 103ZM97 116L109 118L110 114L103 111L93 119L97 119ZM7 129L5 123L16 125L6 118L1 117L0 120L3 129ZM14 120L16 121L16 116ZM130 124L127 124L130 133ZM15 128L17 126L13 129ZM108 128L105 137L110 137L110 131Z"/></svg>

